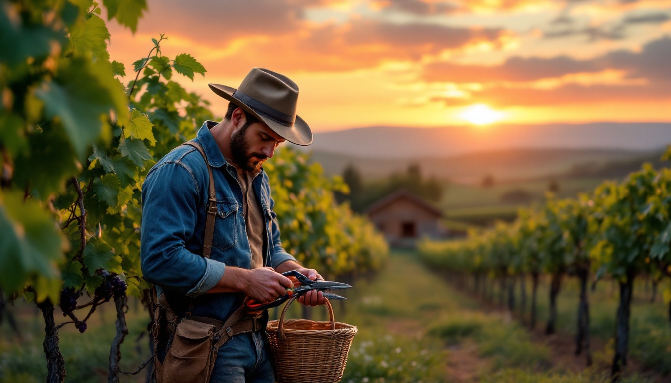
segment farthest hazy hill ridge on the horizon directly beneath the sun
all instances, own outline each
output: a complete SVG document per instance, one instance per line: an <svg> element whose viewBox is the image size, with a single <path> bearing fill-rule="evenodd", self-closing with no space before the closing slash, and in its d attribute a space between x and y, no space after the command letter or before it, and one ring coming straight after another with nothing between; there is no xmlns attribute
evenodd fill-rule
<svg viewBox="0 0 671 383"><path fill-rule="evenodd" d="M491 127L361 127L315 133L307 147L351 156L416 158L518 148L660 150L671 123L496 125Z"/></svg>

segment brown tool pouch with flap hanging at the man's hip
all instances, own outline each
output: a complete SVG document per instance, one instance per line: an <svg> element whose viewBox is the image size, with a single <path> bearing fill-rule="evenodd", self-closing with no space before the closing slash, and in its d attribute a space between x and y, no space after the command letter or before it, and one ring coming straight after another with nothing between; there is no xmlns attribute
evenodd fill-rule
<svg viewBox="0 0 671 383"><path fill-rule="evenodd" d="M159 383L209 382L217 351L217 327L193 318L177 323L166 357L156 376Z"/></svg>

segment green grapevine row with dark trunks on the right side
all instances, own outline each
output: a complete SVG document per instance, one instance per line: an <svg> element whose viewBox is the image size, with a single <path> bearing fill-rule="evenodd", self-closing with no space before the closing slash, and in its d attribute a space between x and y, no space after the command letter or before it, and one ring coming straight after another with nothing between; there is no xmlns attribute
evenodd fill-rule
<svg viewBox="0 0 671 383"><path fill-rule="evenodd" d="M670 156L671 147L663 158L668 160ZM603 182L590 195L566 200L550 196L543 207L521 211L511 224L470 231L462 241L426 240L421 243L420 252L434 270L451 275L471 274L476 286L483 272L499 280L531 272L535 291L539 272L550 274L548 332L554 331L554 305L561 277L570 270L580 279L576 353L584 349L588 364L588 276L613 278L619 284L620 296L611 372L618 376L627 364L633 280L648 275L671 276L670 203L671 168L655 170L650 164L643 164L641 170L621 182ZM509 250L511 244L513 248ZM515 254L513 258L501 258L510 251ZM502 262L514 267L504 270ZM664 302L669 307L671 324L671 288L664 291ZM533 326L535 296L531 305Z"/></svg>

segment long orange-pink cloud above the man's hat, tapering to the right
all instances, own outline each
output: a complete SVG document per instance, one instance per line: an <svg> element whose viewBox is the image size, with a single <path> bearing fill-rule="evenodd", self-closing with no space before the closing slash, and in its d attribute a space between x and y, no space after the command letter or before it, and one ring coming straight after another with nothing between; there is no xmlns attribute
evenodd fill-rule
<svg viewBox="0 0 671 383"><path fill-rule="evenodd" d="M238 2L234 4L240 7ZM315 24L300 19L298 9L282 9L275 13L277 7L274 5L269 6L270 12L263 12L254 19L255 28L245 28L246 24L252 23L251 20L244 21L245 12L241 12L233 24L211 21L211 16L203 11L178 17L179 21L174 23L160 23L168 17L167 13L178 11L177 6L168 2L165 9L150 13L139 28L138 36L143 40L139 44L144 44L148 51L150 38L158 37L159 31L165 33L168 36L165 46L175 40L183 48L197 50L192 55L211 74L224 71L228 75L244 74L253 66L316 72L376 68L384 62L418 61L425 56L462 50L474 44L500 47L509 41L510 36L500 28L451 28L365 18L354 18L346 23ZM272 19L270 13L276 16L272 22L269 21ZM156 34L149 36L147 31L152 30ZM125 38L119 37L124 33ZM127 32L115 30L111 48L117 48L117 39L122 40L123 48L137 45L138 36L130 37ZM139 46L133 50L142 51Z"/></svg>

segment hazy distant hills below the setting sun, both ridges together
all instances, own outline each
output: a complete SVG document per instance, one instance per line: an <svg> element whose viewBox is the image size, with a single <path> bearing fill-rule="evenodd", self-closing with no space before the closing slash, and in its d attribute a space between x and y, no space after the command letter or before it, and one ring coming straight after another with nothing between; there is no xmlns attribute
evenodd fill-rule
<svg viewBox="0 0 671 383"><path fill-rule="evenodd" d="M671 123L471 127L365 127L315 133L312 152L327 174L353 164L382 178L419 164L425 176L456 182L562 176L658 160L671 143ZM627 165L629 164L629 165ZM579 174L578 174L579 175Z"/></svg>

